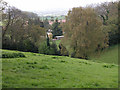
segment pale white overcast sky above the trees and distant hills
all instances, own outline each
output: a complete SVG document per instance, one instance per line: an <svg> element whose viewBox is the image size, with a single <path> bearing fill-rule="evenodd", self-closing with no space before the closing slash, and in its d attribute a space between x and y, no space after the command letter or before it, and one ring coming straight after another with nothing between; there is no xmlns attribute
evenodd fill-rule
<svg viewBox="0 0 120 90"><path fill-rule="evenodd" d="M10 5L23 11L47 11L64 9L68 10L73 7L86 6L101 2L116 0L5 0Z"/></svg>

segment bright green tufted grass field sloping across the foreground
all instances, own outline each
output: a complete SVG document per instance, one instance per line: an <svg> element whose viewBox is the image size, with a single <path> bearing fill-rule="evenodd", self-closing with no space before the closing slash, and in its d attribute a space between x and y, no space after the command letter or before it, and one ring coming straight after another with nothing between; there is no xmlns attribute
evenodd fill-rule
<svg viewBox="0 0 120 90"><path fill-rule="evenodd" d="M25 55L25 57L2 59L4 88L118 87L116 64L30 52L3 51Z"/></svg>

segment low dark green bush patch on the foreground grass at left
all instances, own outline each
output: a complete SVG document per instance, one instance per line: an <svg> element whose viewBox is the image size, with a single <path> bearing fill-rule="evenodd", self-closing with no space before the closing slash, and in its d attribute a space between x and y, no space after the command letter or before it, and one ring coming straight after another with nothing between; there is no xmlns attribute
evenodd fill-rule
<svg viewBox="0 0 120 90"><path fill-rule="evenodd" d="M25 57L23 53L2 52L2 58L20 58Z"/></svg>

